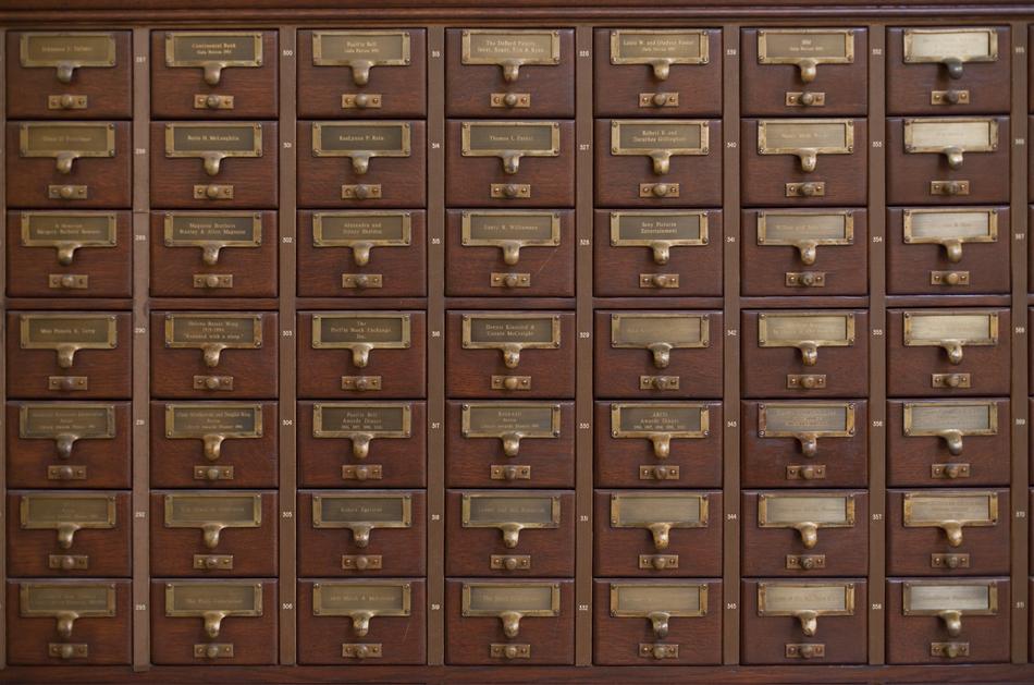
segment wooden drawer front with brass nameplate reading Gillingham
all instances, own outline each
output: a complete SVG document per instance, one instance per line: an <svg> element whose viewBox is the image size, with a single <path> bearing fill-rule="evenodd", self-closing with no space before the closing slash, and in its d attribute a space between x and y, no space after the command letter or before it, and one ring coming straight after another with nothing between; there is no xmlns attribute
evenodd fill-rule
<svg viewBox="0 0 1034 685"><path fill-rule="evenodd" d="M598 119L596 205L721 206L722 139L717 119Z"/></svg>

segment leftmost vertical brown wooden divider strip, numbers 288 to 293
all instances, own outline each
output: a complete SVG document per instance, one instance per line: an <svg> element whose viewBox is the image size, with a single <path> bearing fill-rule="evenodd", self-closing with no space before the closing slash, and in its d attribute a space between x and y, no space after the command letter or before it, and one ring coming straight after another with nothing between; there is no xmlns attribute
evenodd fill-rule
<svg viewBox="0 0 1034 685"><path fill-rule="evenodd" d="M133 29L133 669L150 668L150 30Z"/></svg>

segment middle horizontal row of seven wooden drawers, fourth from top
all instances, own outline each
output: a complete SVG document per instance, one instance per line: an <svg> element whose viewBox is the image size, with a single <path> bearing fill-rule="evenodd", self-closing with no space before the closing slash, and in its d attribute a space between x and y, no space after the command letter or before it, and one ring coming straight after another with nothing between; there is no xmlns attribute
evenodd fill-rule
<svg viewBox="0 0 1034 685"><path fill-rule="evenodd" d="M722 395L721 311L596 311L594 318L599 397ZM446 393L573 397L574 319L569 311L450 311ZM275 313L156 311L150 323L155 396L276 396ZM299 396L424 395L423 313L303 313L297 328ZM127 313L9 313L8 393L128 397L128 329ZM888 393L1009 394L1011 330L1008 309L889 310ZM748 310L740 337L744 396L867 394L864 310Z"/></svg>

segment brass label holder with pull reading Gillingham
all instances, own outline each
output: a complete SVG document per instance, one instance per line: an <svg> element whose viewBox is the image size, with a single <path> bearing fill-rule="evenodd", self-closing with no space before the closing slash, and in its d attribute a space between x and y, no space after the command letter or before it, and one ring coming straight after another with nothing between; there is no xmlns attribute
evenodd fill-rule
<svg viewBox="0 0 1034 685"><path fill-rule="evenodd" d="M615 119L611 121L611 155L645 156L653 173L672 169L672 157L710 154L710 122L691 119Z"/></svg>

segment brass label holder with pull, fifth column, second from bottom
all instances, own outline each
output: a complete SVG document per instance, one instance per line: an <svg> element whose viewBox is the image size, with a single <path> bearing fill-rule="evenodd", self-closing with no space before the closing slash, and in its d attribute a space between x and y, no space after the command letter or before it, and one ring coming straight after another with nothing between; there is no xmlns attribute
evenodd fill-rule
<svg viewBox="0 0 1034 685"><path fill-rule="evenodd" d="M623 492L611 496L612 528L644 528L656 550L666 550L672 528L706 528L706 494Z"/></svg>

